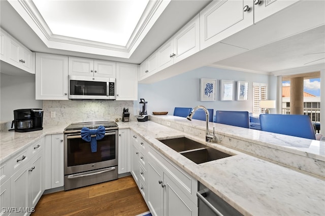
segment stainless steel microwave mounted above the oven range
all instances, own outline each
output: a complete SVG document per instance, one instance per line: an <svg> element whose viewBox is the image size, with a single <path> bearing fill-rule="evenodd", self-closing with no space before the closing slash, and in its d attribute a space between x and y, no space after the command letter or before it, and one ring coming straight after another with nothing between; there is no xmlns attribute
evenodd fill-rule
<svg viewBox="0 0 325 216"><path fill-rule="evenodd" d="M69 75L69 99L116 99L116 79Z"/></svg>

